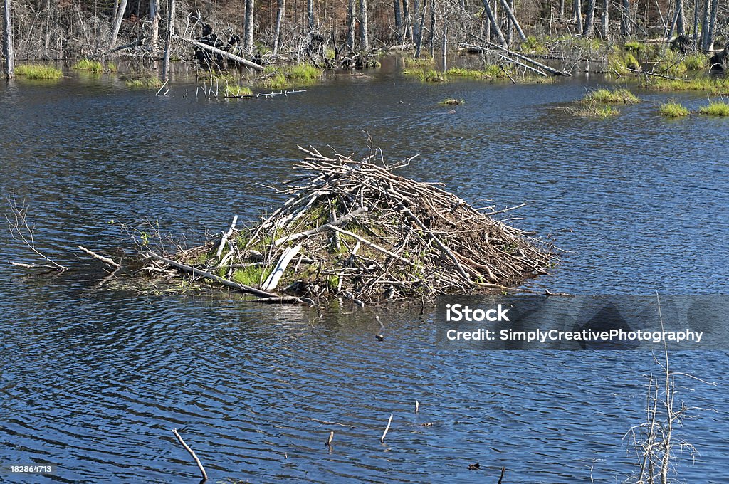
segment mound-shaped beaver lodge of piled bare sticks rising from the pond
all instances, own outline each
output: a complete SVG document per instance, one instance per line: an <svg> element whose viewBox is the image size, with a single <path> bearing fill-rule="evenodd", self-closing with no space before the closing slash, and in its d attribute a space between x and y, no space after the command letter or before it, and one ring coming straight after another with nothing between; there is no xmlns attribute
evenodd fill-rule
<svg viewBox="0 0 729 484"><path fill-rule="evenodd" d="M264 303L355 303L504 290L545 273L552 247L473 208L442 184L394 172L377 152L364 158L302 149L301 176L260 222L162 257L157 267L254 294Z"/></svg>

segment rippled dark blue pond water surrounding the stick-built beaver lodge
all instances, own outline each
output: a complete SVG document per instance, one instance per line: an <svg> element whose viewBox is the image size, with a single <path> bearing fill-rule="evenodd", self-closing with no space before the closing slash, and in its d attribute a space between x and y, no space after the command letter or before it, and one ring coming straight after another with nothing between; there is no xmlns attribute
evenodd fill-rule
<svg viewBox="0 0 729 484"><path fill-rule="evenodd" d="M291 176L297 144L366 152L368 133L389 160L420 154L405 176L477 206L527 203L512 223L567 251L528 286L727 294L729 120L666 120L668 96L642 92L608 120L555 109L599 84L426 85L383 69L254 100L74 74L0 85L0 193L27 200L39 246L78 268L0 272L0 464L56 466L0 481L196 482L177 428L211 482L496 482L502 466L504 483L623 482L636 461L623 436L644 418L644 375L660 372L649 352L444 351L419 305L319 319L235 295L111 290L74 251L128 247L112 219L200 241L275 205L262 185ZM28 260L0 240L2 259ZM728 482L727 352L672 359L716 383L682 380L688 405L714 411L677 431L700 453L679 476Z"/></svg>

